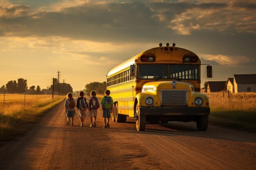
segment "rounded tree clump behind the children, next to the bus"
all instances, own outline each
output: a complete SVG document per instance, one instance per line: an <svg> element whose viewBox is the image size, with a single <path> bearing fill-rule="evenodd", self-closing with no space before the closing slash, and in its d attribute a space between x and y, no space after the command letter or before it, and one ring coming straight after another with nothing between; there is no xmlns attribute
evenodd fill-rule
<svg viewBox="0 0 256 170"><path fill-rule="evenodd" d="M85 85L85 94L90 95L91 91L96 91L97 94L104 94L107 89L107 82L91 82Z"/></svg>

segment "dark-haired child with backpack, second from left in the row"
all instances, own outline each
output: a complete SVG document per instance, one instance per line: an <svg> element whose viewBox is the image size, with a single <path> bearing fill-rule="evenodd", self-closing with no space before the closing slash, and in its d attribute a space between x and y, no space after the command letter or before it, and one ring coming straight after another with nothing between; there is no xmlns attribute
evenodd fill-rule
<svg viewBox="0 0 256 170"><path fill-rule="evenodd" d="M78 117L80 118L81 122L81 127L83 127L83 121L84 118L86 117L85 112L88 109L88 103L85 99L84 93L82 91L79 92L79 96L76 102L76 108L79 110L79 115Z"/></svg>

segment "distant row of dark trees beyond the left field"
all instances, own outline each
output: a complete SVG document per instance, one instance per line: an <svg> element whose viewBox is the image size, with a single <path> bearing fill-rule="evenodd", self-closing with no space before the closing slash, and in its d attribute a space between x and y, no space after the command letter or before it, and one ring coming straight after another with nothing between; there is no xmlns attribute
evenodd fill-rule
<svg viewBox="0 0 256 170"><path fill-rule="evenodd" d="M25 93L25 91L29 90L29 93L31 94L37 94L41 92L40 86L30 86L28 88L27 86L27 79L19 78L16 80L11 80L7 82L6 85L2 85L0 87L0 93L4 93L6 91L7 93ZM47 87L47 90L52 91L52 85ZM54 91L58 91L58 80L54 79ZM67 83L60 83L60 94L66 94L66 93L72 93L73 88L70 84ZM41 92L43 93L43 92Z"/></svg>

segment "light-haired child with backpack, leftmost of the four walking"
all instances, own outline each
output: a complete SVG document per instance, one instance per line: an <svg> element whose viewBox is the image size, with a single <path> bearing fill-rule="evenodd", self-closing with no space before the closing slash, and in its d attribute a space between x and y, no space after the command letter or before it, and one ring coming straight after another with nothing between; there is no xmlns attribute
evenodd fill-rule
<svg viewBox="0 0 256 170"><path fill-rule="evenodd" d="M65 101L65 112L67 113L67 125L70 124L70 117L71 120L71 126L74 126L74 115L75 115L75 99L72 96L72 93L67 93L66 101Z"/></svg>

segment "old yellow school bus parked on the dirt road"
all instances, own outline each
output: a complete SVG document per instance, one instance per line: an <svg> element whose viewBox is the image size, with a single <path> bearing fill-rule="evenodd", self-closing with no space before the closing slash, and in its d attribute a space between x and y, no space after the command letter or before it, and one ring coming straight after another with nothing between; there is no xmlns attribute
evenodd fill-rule
<svg viewBox="0 0 256 170"><path fill-rule="evenodd" d="M136 128L146 123L195 121L207 130L209 99L200 93L199 57L192 51L159 44L115 66L107 74L107 89L114 101L112 120L134 117ZM211 77L207 66L207 77Z"/></svg>

